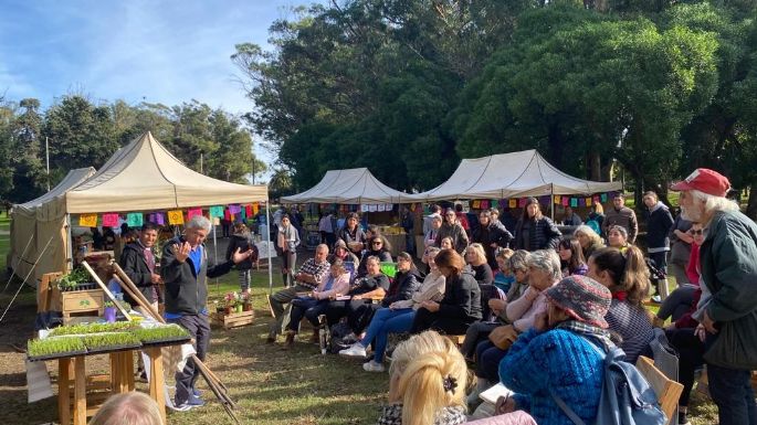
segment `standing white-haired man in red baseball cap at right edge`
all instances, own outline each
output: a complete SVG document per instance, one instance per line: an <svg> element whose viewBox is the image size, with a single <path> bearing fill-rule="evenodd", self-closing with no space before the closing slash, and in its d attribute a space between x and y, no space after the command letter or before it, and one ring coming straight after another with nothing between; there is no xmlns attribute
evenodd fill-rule
<svg viewBox="0 0 757 425"><path fill-rule="evenodd" d="M701 310L707 331L704 359L709 394L721 425L753 424L757 404L751 371L757 369L757 224L726 199L728 179L717 171L696 169L672 190L681 191L681 214L701 223L700 248L703 296ZM697 314L700 312L697 311Z"/></svg>

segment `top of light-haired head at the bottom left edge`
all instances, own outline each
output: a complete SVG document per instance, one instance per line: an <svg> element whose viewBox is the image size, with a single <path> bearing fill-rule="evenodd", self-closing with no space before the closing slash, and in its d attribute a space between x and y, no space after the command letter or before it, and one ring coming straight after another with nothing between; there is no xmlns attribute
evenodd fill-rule
<svg viewBox="0 0 757 425"><path fill-rule="evenodd" d="M132 391L108 399L88 425L165 425L158 404L145 393Z"/></svg>

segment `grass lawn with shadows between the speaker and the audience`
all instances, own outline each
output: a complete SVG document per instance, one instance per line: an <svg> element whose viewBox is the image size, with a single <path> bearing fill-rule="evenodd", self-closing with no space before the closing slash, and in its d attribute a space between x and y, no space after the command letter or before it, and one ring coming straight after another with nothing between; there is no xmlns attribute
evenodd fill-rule
<svg viewBox="0 0 757 425"><path fill-rule="evenodd" d="M0 257L4 258L6 252L7 245L0 247ZM275 267L276 263L274 281L280 283L281 275ZM281 284L277 284L274 290L280 288ZM218 285L212 283L209 288L210 307L225 293L238 289L236 272L220 278ZM316 344L305 341L309 337L307 328L303 329L303 338L291 351L283 351L281 342L266 344L265 337L272 320L266 294L267 270L254 272L255 323L229 331L212 330L207 364L230 389L231 397L239 404L236 414L241 422L261 425L375 424L387 396L387 373L367 373L358 361L322 355ZM7 294L0 296L0 306L8 301ZM56 419L55 399L27 403L24 355L8 347L12 342L25 343L33 330L34 311L34 293L24 289L9 317L0 323L0 394L6 406L0 411L2 424L41 424ZM91 372L104 372L106 362L103 355L87 358L87 368ZM55 380L55 363L48 362L48 369ZM169 424L231 424L206 383L200 382L199 387L204 390L208 405L190 412L169 413ZM138 389L144 390L145 385L138 384ZM714 405L696 394L691 414L696 425L717 422Z"/></svg>

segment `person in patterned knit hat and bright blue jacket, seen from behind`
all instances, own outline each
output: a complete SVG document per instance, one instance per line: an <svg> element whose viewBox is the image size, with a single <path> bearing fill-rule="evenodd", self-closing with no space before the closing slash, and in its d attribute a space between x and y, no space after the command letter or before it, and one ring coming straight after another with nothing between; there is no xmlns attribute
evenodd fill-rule
<svg viewBox="0 0 757 425"><path fill-rule="evenodd" d="M514 391L501 397L490 424L511 424L507 414L528 413L540 425L572 425L550 392L561 397L585 423L597 416L603 383L603 354L596 344L610 346L604 315L610 290L580 275L568 276L545 290L547 315L522 333L500 363L502 383ZM592 342L589 342L591 340ZM485 425L487 422L471 425Z"/></svg>

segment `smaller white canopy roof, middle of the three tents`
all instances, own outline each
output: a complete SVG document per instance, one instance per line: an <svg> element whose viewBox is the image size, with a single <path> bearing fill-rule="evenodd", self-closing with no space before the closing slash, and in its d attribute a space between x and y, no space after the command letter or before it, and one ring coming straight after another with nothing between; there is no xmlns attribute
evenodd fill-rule
<svg viewBox="0 0 757 425"><path fill-rule="evenodd" d="M291 196L282 203L402 203L414 202L410 195L381 183L367 168L329 170L313 188Z"/></svg>

